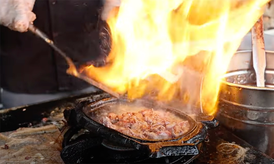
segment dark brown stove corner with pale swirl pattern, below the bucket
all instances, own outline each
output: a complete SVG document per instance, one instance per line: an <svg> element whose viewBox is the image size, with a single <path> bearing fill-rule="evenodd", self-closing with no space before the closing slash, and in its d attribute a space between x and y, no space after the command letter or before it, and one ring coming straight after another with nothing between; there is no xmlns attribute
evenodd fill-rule
<svg viewBox="0 0 274 164"><path fill-rule="evenodd" d="M274 163L274 159L255 150L224 127L208 130L209 142L205 142L200 155L192 163Z"/></svg>

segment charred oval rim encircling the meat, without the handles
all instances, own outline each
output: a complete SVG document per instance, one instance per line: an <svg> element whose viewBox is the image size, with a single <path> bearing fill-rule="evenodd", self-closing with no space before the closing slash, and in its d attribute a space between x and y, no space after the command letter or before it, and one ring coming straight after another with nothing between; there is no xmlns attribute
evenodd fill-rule
<svg viewBox="0 0 274 164"><path fill-rule="evenodd" d="M132 137L132 136L128 136L125 135L117 130L114 130L112 128L108 128L98 122L96 122L95 120L91 119L88 115L86 115L86 113L84 113L84 107L88 106L90 107L91 110L96 110L98 107L101 107L107 103L115 103L115 102L124 102L124 103L130 103L130 101L128 101L128 99L118 99L115 97L111 97L111 98L105 98L105 99L101 99L98 101L82 101L81 104L85 104L82 107L78 107L76 109L76 112L78 113L78 116L81 116L82 118L78 118L78 121L80 120L85 120L84 126L86 126L86 128L90 128L90 126L93 126L95 128L97 128L97 132L102 128L102 129L106 129L106 131L108 132L112 132L112 134L118 134L119 136L122 136L123 138L128 138L129 140L135 140L139 143L156 143L156 142L178 142L178 141L182 141L181 143L185 143L186 141L188 141L190 138L193 137L193 132L196 131L195 129L197 129L197 124L196 121L194 121L190 116L186 115L185 113L182 113L178 110L174 110L174 109L170 109L167 107L164 107L164 109L170 110L172 112L176 112L178 113L181 117L183 117L185 120L189 121L190 123L190 128L188 130L188 132L186 132L184 135L178 137L178 138L172 138L172 139L168 139L168 140L147 140L147 139L142 139L142 138L137 138L137 137ZM161 107L160 105L157 105L155 103L151 103L151 102L146 102L144 101L144 103L150 104L150 105L156 105ZM163 107L162 107L163 108ZM81 123L80 123L81 124ZM93 128L94 129L94 128Z"/></svg>

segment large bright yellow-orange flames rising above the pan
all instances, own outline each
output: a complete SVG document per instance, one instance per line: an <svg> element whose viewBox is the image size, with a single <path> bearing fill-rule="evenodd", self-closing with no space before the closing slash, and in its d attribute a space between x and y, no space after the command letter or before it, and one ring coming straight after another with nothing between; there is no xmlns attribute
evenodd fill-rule
<svg viewBox="0 0 274 164"><path fill-rule="evenodd" d="M122 0L107 20L111 64L83 71L130 98L157 91L158 99L168 101L178 96L181 66L196 65L204 74L203 109L212 115L221 76L268 1Z"/></svg>

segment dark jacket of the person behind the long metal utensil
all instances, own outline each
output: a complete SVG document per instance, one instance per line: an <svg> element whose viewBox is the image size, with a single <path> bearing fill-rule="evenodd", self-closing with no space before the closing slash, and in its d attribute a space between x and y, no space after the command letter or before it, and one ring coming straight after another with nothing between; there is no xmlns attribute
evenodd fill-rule
<svg viewBox="0 0 274 164"><path fill-rule="evenodd" d="M96 0L36 0L34 25L44 31L69 57L80 64L102 55ZM65 60L30 32L1 26L1 87L18 93L53 93L90 86L66 74Z"/></svg>

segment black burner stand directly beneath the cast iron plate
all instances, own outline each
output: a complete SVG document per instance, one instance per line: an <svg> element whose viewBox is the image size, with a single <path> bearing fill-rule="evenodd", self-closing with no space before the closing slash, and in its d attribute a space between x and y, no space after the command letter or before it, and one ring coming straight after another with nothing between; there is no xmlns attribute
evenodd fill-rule
<svg viewBox="0 0 274 164"><path fill-rule="evenodd" d="M74 132L72 132L74 131ZM108 148L103 138L93 134L82 134L70 141L72 133L78 130L68 130L64 135L61 157L65 163L190 163L197 155L169 156L162 158L149 158L146 153L139 150L115 150ZM199 144L199 148L201 144ZM74 154L73 156L71 154Z"/></svg>

